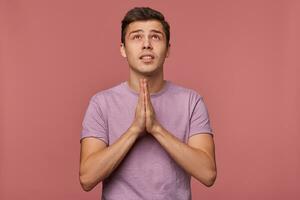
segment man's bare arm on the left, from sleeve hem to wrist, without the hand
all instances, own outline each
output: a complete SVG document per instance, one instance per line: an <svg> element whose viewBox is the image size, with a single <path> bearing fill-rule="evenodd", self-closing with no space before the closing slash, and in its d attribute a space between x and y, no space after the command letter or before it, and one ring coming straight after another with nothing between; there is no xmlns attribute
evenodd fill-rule
<svg viewBox="0 0 300 200"><path fill-rule="evenodd" d="M114 144L96 138L84 138L81 146L80 183L85 191L92 190L108 177L130 150L139 133L129 128Z"/></svg>

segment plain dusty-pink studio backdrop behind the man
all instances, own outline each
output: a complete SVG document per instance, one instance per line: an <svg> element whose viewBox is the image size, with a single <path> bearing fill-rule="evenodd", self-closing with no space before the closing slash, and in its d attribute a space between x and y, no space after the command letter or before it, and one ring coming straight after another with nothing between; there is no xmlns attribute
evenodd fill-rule
<svg viewBox="0 0 300 200"><path fill-rule="evenodd" d="M79 184L81 122L91 95L128 77L134 6L165 14L165 78L209 109L218 178L193 179L193 198L300 199L299 1L102 2L0 2L1 200L99 199Z"/></svg>

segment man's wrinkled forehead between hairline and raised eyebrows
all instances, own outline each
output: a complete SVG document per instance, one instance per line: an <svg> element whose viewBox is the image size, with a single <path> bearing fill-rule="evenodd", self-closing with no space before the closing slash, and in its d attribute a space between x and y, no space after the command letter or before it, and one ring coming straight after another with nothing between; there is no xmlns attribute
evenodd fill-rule
<svg viewBox="0 0 300 200"><path fill-rule="evenodd" d="M151 30L157 30L157 31L161 31L162 33L164 33L162 24L157 20L132 22L128 25L126 32L128 34L135 30L142 30L144 32L150 32Z"/></svg>

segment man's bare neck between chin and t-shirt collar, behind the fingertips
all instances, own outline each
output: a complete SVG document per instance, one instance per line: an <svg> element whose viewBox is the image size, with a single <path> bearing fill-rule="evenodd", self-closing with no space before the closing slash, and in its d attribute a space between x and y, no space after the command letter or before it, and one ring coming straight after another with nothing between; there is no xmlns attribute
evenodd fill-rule
<svg viewBox="0 0 300 200"><path fill-rule="evenodd" d="M129 73L128 85L136 92L140 91L139 80L145 78L148 80L150 94L159 92L165 84L163 73L155 76L147 76L143 74L136 74L132 71Z"/></svg>

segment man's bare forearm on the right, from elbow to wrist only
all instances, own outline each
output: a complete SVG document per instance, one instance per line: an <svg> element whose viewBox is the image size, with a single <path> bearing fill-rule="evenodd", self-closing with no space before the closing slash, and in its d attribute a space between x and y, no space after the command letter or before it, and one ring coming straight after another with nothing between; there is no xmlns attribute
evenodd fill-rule
<svg viewBox="0 0 300 200"><path fill-rule="evenodd" d="M214 158L201 149L181 142L163 127L157 128L152 135L187 173L206 186L213 184L216 177Z"/></svg>

